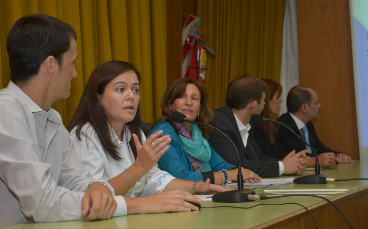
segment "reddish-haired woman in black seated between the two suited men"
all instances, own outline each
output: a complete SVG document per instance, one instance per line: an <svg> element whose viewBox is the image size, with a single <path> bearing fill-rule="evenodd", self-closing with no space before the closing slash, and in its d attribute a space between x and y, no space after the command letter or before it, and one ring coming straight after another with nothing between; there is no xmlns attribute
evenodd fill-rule
<svg viewBox="0 0 368 229"><path fill-rule="evenodd" d="M267 84L265 107L261 112L263 117L271 119L279 114L282 103L282 86L273 80L262 79ZM262 154L282 160L289 153L284 150L279 138L279 125L275 122L262 122L260 125L253 124L254 140ZM307 157L305 160L307 160ZM307 162L305 162L307 165Z"/></svg>

